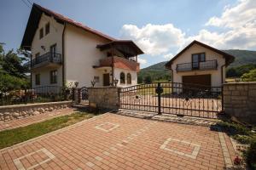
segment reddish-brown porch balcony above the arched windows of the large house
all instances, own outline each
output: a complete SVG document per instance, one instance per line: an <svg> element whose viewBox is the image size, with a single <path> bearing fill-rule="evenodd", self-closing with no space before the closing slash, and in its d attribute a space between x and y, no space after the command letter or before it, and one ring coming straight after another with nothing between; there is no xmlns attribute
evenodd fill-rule
<svg viewBox="0 0 256 170"><path fill-rule="evenodd" d="M112 66L112 57L107 57L106 59L100 59L100 65L95 65L93 67L103 68L103 67L111 67L111 66ZM117 56L113 57L113 67L125 69L125 70L131 70L131 71L140 70L140 65L136 61L117 57Z"/></svg>

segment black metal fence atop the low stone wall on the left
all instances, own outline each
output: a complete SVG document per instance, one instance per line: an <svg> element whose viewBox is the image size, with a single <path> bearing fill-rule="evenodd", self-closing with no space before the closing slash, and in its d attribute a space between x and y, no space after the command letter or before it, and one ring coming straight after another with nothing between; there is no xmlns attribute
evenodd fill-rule
<svg viewBox="0 0 256 170"><path fill-rule="evenodd" d="M44 86L0 92L0 105L18 105L73 99L72 88Z"/></svg>

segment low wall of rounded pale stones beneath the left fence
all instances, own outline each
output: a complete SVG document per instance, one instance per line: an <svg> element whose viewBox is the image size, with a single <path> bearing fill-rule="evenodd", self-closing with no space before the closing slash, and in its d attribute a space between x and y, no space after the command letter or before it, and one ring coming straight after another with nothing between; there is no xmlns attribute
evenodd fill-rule
<svg viewBox="0 0 256 170"><path fill-rule="evenodd" d="M61 101L26 105L0 106L0 122L7 122L26 116L44 114L45 112L64 109L70 107L71 105L72 101Z"/></svg>

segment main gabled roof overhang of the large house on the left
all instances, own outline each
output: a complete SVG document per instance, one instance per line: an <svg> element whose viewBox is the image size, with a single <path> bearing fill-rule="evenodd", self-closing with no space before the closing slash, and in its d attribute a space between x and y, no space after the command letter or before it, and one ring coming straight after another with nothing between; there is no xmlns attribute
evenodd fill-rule
<svg viewBox="0 0 256 170"><path fill-rule="evenodd" d="M75 22L74 20L71 20L71 19L68 19L67 17L65 17L61 14L56 14L55 12L49 10L48 8L43 8L40 5L33 3L32 10L31 10L29 19L26 24L26 30L25 30L24 36L22 38L20 48L24 48L26 50L31 50L32 40L33 40L33 37L35 36L35 33L38 29L38 24L39 24L39 21L40 21L43 13L48 16L54 17L54 19L61 24L67 23L67 24L79 27L79 28L83 29L84 31L89 31L99 37L103 37L109 41L115 40L115 38L109 37L100 31L96 31L88 26L84 26L81 23Z"/></svg>

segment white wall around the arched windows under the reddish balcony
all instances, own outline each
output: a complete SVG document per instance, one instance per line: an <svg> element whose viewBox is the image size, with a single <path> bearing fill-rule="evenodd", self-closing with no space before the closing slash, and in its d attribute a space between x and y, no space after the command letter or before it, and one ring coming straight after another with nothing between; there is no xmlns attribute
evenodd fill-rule
<svg viewBox="0 0 256 170"><path fill-rule="evenodd" d="M120 83L120 73L121 72L125 73L125 84ZM131 84L127 83L127 74L128 73L131 74ZM129 86L137 85L137 71L129 71L129 70L125 70L125 69L114 68L113 75L114 75L114 78L119 80L119 82L117 84L118 87L125 88L125 87L129 87Z"/></svg>

